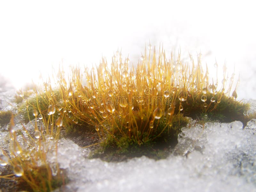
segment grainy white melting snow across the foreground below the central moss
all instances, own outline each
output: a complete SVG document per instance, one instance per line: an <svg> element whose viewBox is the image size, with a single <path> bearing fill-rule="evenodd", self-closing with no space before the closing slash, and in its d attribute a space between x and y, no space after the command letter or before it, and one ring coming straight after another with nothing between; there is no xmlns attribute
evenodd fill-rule
<svg viewBox="0 0 256 192"><path fill-rule="evenodd" d="M256 119L184 127L167 159L126 162L88 159L88 149L71 140L58 145L65 191L256 191Z"/></svg>

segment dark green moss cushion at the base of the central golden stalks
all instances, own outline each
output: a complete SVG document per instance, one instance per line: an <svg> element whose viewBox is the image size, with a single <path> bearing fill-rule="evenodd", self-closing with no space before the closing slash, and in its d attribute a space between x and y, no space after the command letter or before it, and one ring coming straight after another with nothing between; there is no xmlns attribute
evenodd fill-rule
<svg viewBox="0 0 256 192"><path fill-rule="evenodd" d="M100 149L94 151L91 157L100 157L106 161L124 160L143 155L154 159L166 158L169 154L167 153L169 148L174 147L178 142L177 138L180 129L186 126L189 120L187 117L183 117L182 114L174 115L172 125L166 128L165 119L166 115L159 120L156 132L152 133L148 139L145 135L145 140L142 139L142 141L138 141L133 136L129 137L129 133L127 133L127 136L121 134L116 135L115 138L108 136L101 144ZM138 120L137 123L139 122Z"/></svg>

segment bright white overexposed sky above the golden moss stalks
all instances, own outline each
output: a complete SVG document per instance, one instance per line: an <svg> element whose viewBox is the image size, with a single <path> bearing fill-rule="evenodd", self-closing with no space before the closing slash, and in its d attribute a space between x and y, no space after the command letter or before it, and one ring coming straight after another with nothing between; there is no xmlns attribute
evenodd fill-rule
<svg viewBox="0 0 256 192"><path fill-rule="evenodd" d="M117 47L136 64L145 43L181 48L241 73L238 98L255 96L253 1L0 1L0 74L16 88L64 64L111 60ZM221 79L219 80L221 81Z"/></svg>

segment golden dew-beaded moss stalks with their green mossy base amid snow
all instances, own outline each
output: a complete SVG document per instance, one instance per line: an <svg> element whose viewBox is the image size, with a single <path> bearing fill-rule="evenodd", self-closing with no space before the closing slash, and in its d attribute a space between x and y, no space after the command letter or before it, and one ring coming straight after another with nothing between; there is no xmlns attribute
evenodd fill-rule
<svg viewBox="0 0 256 192"><path fill-rule="evenodd" d="M23 126L21 138L33 147L20 144L12 117L10 152L2 150L0 160L2 166L13 167L13 174L1 178L16 175L33 191L51 191L64 184L67 180L58 163L53 169L46 158L49 150L57 153L61 130L97 132L102 150L143 154L177 140L189 117L201 122L239 120L244 125L252 118L244 115L250 105L236 100L239 80L231 90L234 75L228 78L225 65L219 84L217 78L209 78L207 66L203 71L201 54L196 63L191 55L190 62L183 63L180 52L177 58L171 52L167 59L163 48L158 57L151 44L147 49L136 68L129 68L129 58L116 51L110 64L102 58L92 69L76 66L67 72L59 68L54 88L49 79L41 88L35 86L30 97L24 98L20 91L24 100L19 113L27 122L36 118L33 132ZM217 70L217 62L214 67Z"/></svg>

